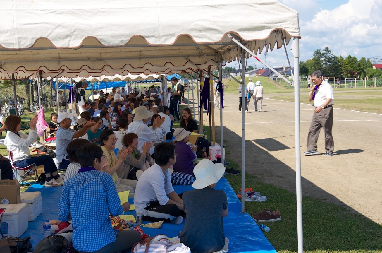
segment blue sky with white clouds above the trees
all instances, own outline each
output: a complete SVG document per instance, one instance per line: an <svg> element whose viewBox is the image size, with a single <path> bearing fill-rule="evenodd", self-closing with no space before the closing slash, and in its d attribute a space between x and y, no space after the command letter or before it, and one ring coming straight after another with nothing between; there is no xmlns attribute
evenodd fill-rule
<svg viewBox="0 0 382 253"><path fill-rule="evenodd" d="M300 61L317 49L329 47L335 55L382 58L382 0L279 0L299 13ZM290 45L287 51L291 64ZM264 53L258 55L265 60ZM285 50L267 54L271 66L287 66ZM254 58L247 65L264 67ZM227 66L235 66L235 62Z"/></svg>

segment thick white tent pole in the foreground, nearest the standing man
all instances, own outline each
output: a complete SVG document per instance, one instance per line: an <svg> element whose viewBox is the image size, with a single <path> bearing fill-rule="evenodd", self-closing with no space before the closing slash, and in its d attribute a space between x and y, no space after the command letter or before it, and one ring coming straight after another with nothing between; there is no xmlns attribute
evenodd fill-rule
<svg viewBox="0 0 382 253"><path fill-rule="evenodd" d="M295 147L296 147L296 202L297 202L297 238L298 253L304 252L303 246L303 206L301 191L301 143L300 143L300 92L299 92L299 39L292 41L291 50L295 66Z"/></svg>

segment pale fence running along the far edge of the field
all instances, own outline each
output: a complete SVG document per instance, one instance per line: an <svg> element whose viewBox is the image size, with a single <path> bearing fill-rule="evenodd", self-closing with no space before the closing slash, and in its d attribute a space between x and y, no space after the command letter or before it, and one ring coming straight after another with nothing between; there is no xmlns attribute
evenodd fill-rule
<svg viewBox="0 0 382 253"><path fill-rule="evenodd" d="M378 79L365 80L364 78L351 78L346 80L340 80L338 81L338 83L337 81L328 81L328 83L334 89L382 87L382 80L378 80ZM278 84L287 89L294 88L294 86L286 82L278 82ZM309 89L308 81L300 81L300 89Z"/></svg>

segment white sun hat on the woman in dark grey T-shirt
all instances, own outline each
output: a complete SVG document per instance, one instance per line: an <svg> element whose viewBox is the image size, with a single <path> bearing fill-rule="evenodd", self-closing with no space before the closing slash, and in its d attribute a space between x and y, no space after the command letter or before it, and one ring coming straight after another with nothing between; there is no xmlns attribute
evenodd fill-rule
<svg viewBox="0 0 382 253"><path fill-rule="evenodd" d="M194 175L196 177L192 187L195 189L203 189L209 185L217 183L223 176L225 167L223 164L214 164L209 159L203 159L194 168Z"/></svg>

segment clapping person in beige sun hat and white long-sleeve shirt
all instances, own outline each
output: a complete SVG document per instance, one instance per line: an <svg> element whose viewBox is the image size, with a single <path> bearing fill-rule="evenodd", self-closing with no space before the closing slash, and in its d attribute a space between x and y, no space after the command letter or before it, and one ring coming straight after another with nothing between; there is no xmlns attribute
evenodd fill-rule
<svg viewBox="0 0 382 253"><path fill-rule="evenodd" d="M133 122L129 124L128 133L138 135L138 150L142 152L142 147L145 142L156 141L162 136L160 126L165 121L165 118L155 118L151 127L145 124L148 118L152 117L152 112L147 111L146 106L139 106L135 110ZM150 149L150 155L154 153L154 147Z"/></svg>

